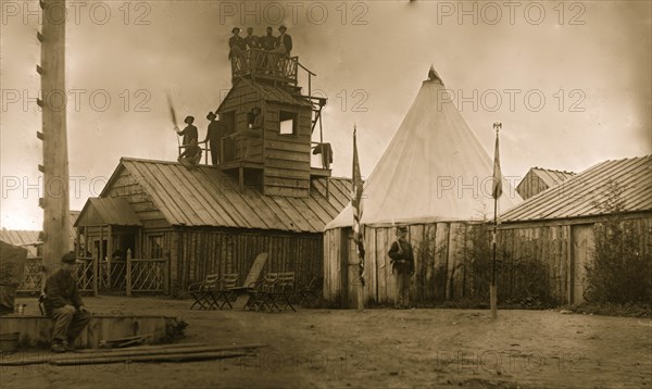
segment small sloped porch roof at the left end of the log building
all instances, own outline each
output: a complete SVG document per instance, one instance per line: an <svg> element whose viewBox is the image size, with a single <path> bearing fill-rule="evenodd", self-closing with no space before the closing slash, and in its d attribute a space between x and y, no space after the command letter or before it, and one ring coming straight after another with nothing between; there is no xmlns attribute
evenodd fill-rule
<svg viewBox="0 0 652 389"><path fill-rule="evenodd" d="M99 225L139 226L141 223L125 199L89 198L75 227Z"/></svg>

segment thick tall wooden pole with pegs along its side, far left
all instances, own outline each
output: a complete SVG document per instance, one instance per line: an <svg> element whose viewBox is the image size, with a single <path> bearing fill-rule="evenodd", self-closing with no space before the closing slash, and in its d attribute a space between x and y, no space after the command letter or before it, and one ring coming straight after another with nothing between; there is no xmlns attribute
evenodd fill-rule
<svg viewBox="0 0 652 389"><path fill-rule="evenodd" d="M43 12L41 76L43 142L43 265L50 272L70 251L68 160L65 90L65 0L39 1Z"/></svg>

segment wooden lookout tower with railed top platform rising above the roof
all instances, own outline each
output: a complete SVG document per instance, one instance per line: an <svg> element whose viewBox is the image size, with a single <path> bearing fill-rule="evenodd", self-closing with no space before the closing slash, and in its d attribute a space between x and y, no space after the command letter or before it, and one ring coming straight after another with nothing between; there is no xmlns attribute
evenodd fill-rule
<svg viewBox="0 0 652 389"><path fill-rule="evenodd" d="M233 87L217 109L225 124L221 168L238 176L240 188L255 186L267 196L308 198L311 179L330 176L330 148L323 143L322 109L326 99L312 96L314 73L298 57L259 49L231 57ZM298 86L306 72L308 95ZM250 129L260 110L262 125ZM319 125L319 141L312 136ZM311 167L311 150L325 150L322 167Z"/></svg>

